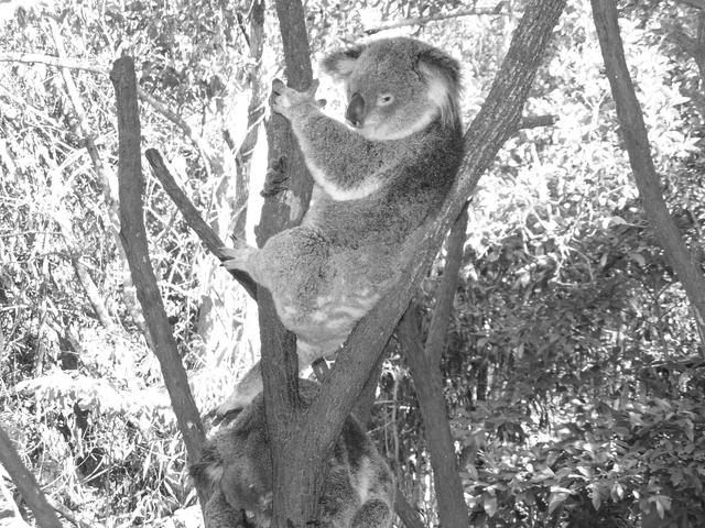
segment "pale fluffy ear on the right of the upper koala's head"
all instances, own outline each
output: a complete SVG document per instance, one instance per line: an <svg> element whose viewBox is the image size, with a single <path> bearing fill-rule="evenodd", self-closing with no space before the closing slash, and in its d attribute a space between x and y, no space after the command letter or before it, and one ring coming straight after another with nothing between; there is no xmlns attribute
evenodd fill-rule
<svg viewBox="0 0 705 528"><path fill-rule="evenodd" d="M429 98L441 110L443 122L453 124L458 114L460 64L442 51L427 47L419 53L415 69L429 87Z"/></svg>

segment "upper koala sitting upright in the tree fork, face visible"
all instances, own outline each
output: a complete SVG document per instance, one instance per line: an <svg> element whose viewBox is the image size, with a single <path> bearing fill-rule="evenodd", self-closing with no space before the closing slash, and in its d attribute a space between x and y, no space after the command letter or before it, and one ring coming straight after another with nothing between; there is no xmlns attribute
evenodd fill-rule
<svg viewBox="0 0 705 528"><path fill-rule="evenodd" d="M463 156L459 65L442 51L386 38L335 52L323 69L345 85L347 125L319 110L315 86L273 85L272 110L291 122L314 179L301 226L261 250L240 244L223 254L226 268L272 293L296 334L301 367L333 359L399 280ZM218 414L243 407L261 388L258 364Z"/></svg>

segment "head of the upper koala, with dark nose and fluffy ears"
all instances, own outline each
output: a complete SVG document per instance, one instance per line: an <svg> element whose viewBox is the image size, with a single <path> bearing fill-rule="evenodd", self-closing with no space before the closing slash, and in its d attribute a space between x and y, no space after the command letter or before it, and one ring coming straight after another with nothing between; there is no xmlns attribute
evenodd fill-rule
<svg viewBox="0 0 705 528"><path fill-rule="evenodd" d="M399 140L438 119L458 125L459 65L413 38L384 38L333 53L323 68L345 82L345 118L368 140Z"/></svg>

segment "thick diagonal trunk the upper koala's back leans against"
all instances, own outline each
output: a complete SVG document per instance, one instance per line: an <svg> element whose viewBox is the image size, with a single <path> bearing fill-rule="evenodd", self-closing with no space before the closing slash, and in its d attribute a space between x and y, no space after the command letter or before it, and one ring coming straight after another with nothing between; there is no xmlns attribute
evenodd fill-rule
<svg viewBox="0 0 705 528"><path fill-rule="evenodd" d="M296 400L293 396L295 382L289 381L295 378L295 370L291 364L285 367L285 359L290 354L275 348L281 338L270 338L274 329L269 324L275 317L264 318L262 312L267 309L273 315L271 301L269 298L267 302L260 299L264 394L268 424L275 446L273 527L303 528L306 521L313 519L311 516L314 515L316 497L321 492L323 461L429 270L444 234L460 213L500 146L517 130L529 88L564 4L565 0L533 0L528 4L488 99L466 134L467 156L462 165L462 177L444 204L440 220L423 239L416 258L404 271L399 286L358 323L322 385L318 397L301 417L295 404L292 405ZM302 23L291 19L288 22ZM276 332L279 334L279 328ZM279 387L284 387L284 391ZM291 414L288 415L288 411ZM291 420L292 415L297 425L289 428L288 436L284 436L281 433L281 424Z"/></svg>

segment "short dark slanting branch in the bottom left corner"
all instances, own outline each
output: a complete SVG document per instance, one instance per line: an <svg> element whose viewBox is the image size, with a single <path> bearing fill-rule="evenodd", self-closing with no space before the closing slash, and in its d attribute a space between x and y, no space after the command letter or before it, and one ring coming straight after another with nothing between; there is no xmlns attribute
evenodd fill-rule
<svg viewBox="0 0 705 528"><path fill-rule="evenodd" d="M24 466L10 437L2 428L0 428L0 462L34 514L37 525L41 528L62 528L54 508L46 501L36 479Z"/></svg>

